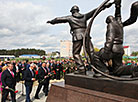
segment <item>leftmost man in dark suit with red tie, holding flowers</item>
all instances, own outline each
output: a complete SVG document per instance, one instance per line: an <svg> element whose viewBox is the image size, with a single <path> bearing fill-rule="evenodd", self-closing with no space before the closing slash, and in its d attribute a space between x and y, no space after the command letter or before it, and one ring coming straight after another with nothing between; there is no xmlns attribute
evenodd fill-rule
<svg viewBox="0 0 138 102"><path fill-rule="evenodd" d="M11 93L12 102L16 102L15 93L9 90L9 88L15 90L16 76L15 73L13 72L13 65L11 63L8 63L7 65L8 69L5 70L1 76L2 86L4 86L1 102L6 102L9 92Z"/></svg>

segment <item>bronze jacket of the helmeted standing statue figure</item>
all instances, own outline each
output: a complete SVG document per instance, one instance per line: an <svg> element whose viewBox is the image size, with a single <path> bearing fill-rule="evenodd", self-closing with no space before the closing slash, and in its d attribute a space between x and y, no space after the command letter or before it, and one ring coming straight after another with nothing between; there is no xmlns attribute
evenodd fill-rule
<svg viewBox="0 0 138 102"><path fill-rule="evenodd" d="M52 23L69 23L71 27L70 31L72 34L72 41L82 40L87 27L87 20L93 16L95 11L96 9L86 14L80 14L77 12L70 16L57 17L52 20Z"/></svg>

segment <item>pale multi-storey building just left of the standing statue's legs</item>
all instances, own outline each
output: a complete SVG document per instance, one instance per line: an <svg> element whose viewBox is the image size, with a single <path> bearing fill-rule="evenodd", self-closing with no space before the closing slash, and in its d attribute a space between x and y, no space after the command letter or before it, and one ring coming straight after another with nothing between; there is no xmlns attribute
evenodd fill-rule
<svg viewBox="0 0 138 102"><path fill-rule="evenodd" d="M70 40L60 41L60 57L72 57L72 42Z"/></svg>

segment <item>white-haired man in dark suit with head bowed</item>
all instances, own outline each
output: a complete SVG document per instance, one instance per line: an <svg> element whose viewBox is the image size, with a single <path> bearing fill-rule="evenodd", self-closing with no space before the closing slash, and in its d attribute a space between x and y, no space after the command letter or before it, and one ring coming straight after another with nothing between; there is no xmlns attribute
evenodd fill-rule
<svg viewBox="0 0 138 102"><path fill-rule="evenodd" d="M34 64L30 64L30 67L24 72L24 80L26 87L26 102L31 102L30 93L32 91L33 82L35 81Z"/></svg>

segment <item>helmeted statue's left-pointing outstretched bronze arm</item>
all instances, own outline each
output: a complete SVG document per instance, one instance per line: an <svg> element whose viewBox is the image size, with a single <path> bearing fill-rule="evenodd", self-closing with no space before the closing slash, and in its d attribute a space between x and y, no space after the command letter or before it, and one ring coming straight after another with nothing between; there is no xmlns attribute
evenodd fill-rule
<svg viewBox="0 0 138 102"><path fill-rule="evenodd" d="M51 21L47 21L47 23L58 24L58 23L67 23L68 21L69 21L69 16L65 16L65 17L57 17Z"/></svg>

